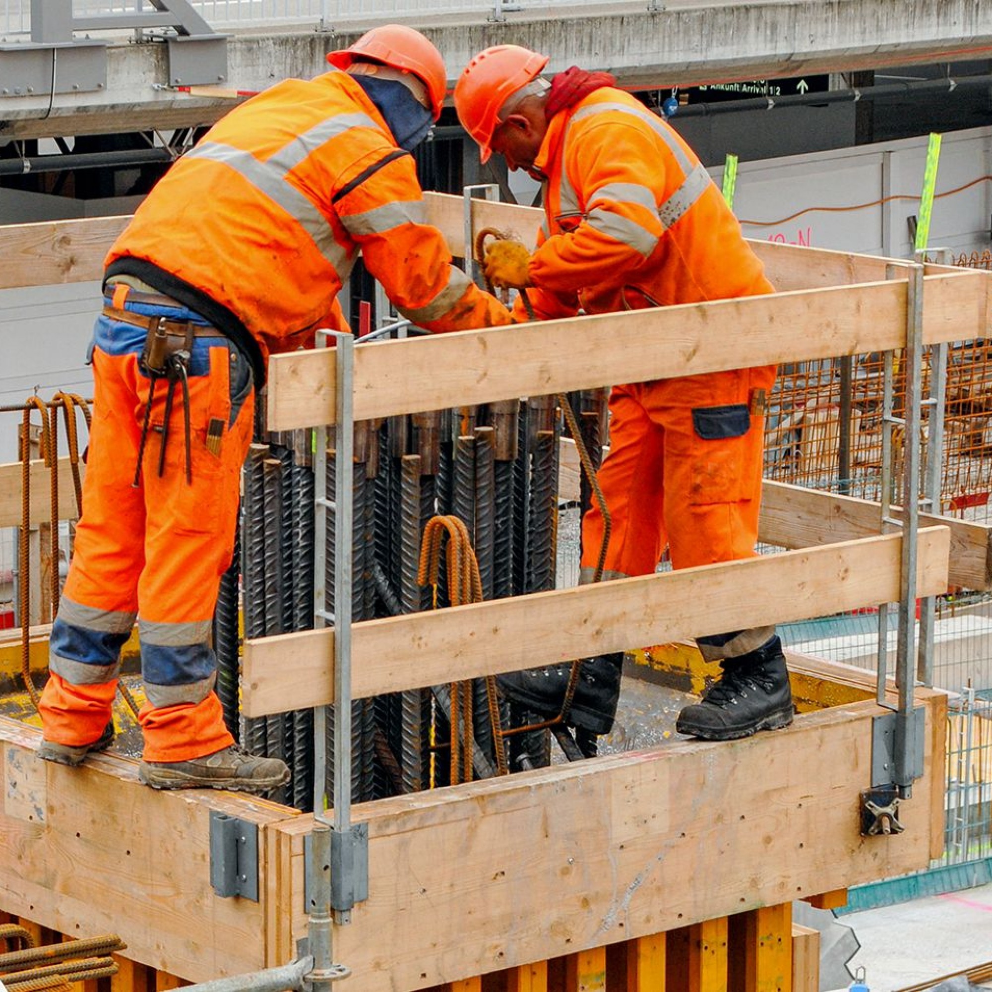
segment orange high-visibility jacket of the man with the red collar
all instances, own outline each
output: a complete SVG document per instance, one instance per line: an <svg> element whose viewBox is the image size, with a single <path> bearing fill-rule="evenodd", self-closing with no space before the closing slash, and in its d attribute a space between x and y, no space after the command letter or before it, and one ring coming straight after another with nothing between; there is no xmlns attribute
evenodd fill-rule
<svg viewBox="0 0 992 992"><path fill-rule="evenodd" d="M773 292L695 154L633 96L597 89L556 114L535 165L548 177L537 316Z"/></svg>

